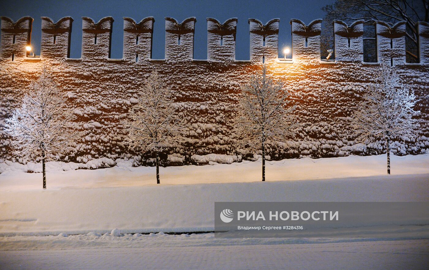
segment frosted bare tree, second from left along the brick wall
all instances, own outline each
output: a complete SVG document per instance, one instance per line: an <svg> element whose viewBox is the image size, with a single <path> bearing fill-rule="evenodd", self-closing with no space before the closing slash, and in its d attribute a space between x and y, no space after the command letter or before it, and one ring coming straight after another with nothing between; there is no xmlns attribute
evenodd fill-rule
<svg viewBox="0 0 429 270"><path fill-rule="evenodd" d="M139 102L123 121L127 133L124 143L136 152L155 152L157 184L159 154L164 149L186 142L186 121L177 112L174 93L156 71L152 72L139 90Z"/></svg>

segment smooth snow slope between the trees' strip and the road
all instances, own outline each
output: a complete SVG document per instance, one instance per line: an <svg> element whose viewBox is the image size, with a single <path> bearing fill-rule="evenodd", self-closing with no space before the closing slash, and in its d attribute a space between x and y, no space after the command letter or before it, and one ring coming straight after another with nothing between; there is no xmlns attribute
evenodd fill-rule
<svg viewBox="0 0 429 270"><path fill-rule="evenodd" d="M0 192L0 235L213 231L227 201L428 201L429 174Z"/></svg>

